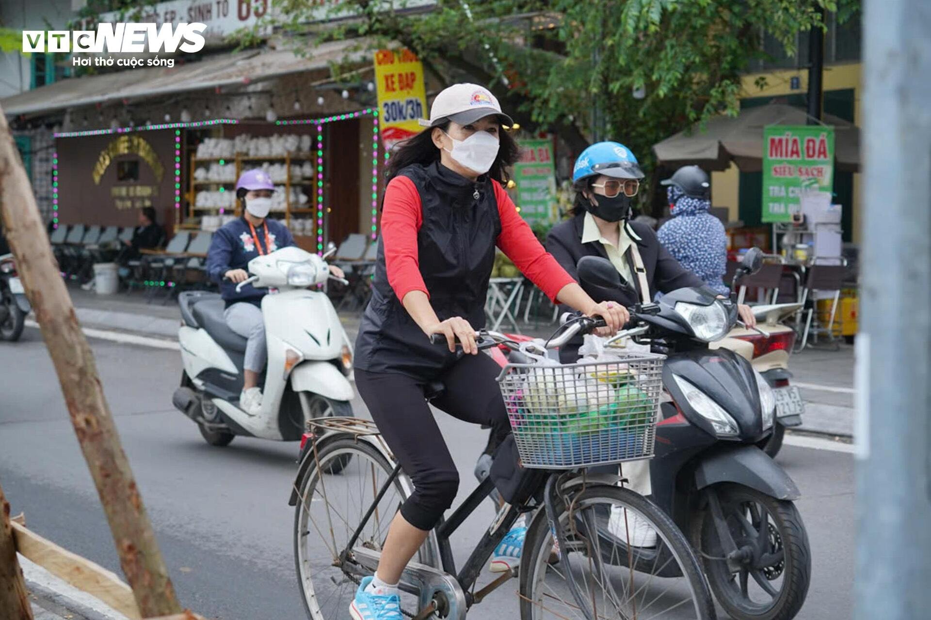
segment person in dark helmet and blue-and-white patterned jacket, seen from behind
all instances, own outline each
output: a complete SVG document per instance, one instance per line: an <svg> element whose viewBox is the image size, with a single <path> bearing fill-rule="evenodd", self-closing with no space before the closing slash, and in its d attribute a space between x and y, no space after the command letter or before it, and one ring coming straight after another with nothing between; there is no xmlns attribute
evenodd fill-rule
<svg viewBox="0 0 931 620"><path fill-rule="evenodd" d="M730 293L723 276L727 268L727 236L721 220L711 208L711 184L708 174L697 165L686 165L666 185L669 219L656 237L682 267L695 273L719 295Z"/></svg>

